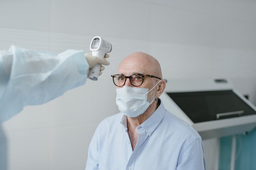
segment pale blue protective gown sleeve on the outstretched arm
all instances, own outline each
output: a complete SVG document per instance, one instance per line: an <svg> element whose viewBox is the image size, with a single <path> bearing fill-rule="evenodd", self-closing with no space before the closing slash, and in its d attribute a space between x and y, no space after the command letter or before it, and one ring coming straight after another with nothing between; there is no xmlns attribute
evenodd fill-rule
<svg viewBox="0 0 256 170"><path fill-rule="evenodd" d="M82 50L56 55L11 46L0 53L0 67L0 120L5 121L26 105L46 103L83 85L89 66Z"/></svg>

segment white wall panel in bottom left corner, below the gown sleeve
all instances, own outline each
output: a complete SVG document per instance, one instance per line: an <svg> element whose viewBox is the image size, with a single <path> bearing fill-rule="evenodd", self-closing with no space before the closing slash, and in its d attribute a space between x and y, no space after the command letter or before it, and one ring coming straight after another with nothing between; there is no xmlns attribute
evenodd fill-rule
<svg viewBox="0 0 256 170"><path fill-rule="evenodd" d="M8 132L8 168L46 170L49 164L48 128Z"/></svg>

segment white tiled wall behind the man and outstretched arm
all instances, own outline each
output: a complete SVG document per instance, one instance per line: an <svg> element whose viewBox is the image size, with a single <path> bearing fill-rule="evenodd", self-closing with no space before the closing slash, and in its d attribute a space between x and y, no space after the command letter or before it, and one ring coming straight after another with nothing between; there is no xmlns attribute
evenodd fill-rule
<svg viewBox="0 0 256 170"><path fill-rule="evenodd" d="M27 106L0 128L0 166L9 170L81 170L98 123L118 112L110 74L143 51L163 77L229 78L256 104L256 2L251 0L3 0L0 49L10 45L59 53L89 52L100 35L113 50L99 81L47 104ZM215 142L216 143L216 142ZM205 148L207 169L217 153ZM7 158L7 161L4 161ZM209 161L208 161L209 160ZM5 163L4 163L5 162ZM2 169L1 169L2 170Z"/></svg>

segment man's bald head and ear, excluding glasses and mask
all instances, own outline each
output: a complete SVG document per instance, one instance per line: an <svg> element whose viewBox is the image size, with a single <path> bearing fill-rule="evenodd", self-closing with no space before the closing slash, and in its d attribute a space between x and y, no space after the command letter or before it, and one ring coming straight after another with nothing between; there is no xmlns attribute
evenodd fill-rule
<svg viewBox="0 0 256 170"><path fill-rule="evenodd" d="M148 75L153 75L154 77L144 76L143 83L140 86L134 86L135 84L132 85L129 78L127 78L123 86L116 87L116 88L129 86L129 87L147 88L150 90L160 81L157 84L157 86L148 93L147 101L151 103L156 98L159 98L159 96L162 94L163 90L166 87L166 82L164 80L160 80L162 79L162 71L158 61L151 55L143 52L132 53L127 57L125 57L124 60L119 64L117 68L117 74L130 76L134 73L148 74ZM152 105L156 106L156 103L157 102L154 101Z"/></svg>

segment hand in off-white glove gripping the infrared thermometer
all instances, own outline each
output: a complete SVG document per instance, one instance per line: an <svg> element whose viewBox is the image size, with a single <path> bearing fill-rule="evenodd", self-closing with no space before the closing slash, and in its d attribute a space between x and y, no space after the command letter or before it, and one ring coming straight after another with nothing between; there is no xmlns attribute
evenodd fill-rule
<svg viewBox="0 0 256 170"><path fill-rule="evenodd" d="M87 71L87 76L89 75L90 69L91 69L92 67L94 67L95 65L97 65L97 64L103 64L103 65L108 66L108 65L110 64L110 63L108 62L108 60L105 59L105 58L108 58L108 57L109 57L109 54L105 54L105 55L104 55L104 58L93 56L93 55L91 55L91 53L85 53L84 56L85 56L85 58L86 58L86 60L87 60L87 62L88 62L88 64L89 64L89 69L88 69L88 71ZM100 67L100 73L99 73L99 75L102 74L102 71L103 71L104 69L105 69L104 66L101 66L101 67Z"/></svg>

